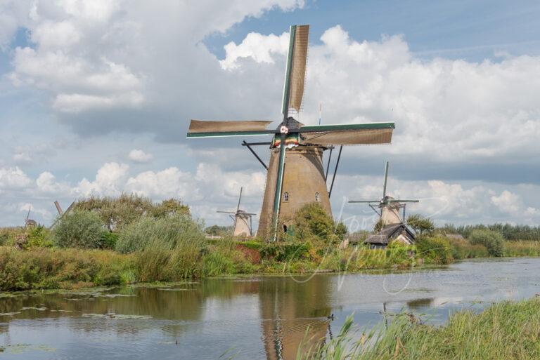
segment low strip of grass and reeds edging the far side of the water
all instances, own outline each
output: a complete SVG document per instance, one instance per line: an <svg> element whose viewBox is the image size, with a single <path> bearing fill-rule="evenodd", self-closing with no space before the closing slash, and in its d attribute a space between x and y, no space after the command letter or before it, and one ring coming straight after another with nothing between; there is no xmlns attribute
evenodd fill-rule
<svg viewBox="0 0 540 360"><path fill-rule="evenodd" d="M504 249L505 255L513 257L540 255L537 241L507 241ZM209 241L191 251L148 248L127 254L113 250L44 247L19 251L11 246L0 246L0 291L174 282L240 274L409 269L489 255L485 248L470 244L451 244L423 251L405 246L379 250L364 246L339 249L321 244L262 244L226 239Z"/></svg>

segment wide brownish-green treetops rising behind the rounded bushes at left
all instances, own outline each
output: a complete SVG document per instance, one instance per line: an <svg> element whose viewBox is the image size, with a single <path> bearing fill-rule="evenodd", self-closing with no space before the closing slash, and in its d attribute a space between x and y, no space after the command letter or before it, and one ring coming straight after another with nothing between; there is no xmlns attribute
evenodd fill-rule
<svg viewBox="0 0 540 360"><path fill-rule="evenodd" d="M91 196L77 201L73 210L93 211L99 214L110 232L139 220L143 216L165 218L169 215L189 215L189 207L176 199L154 204L150 199L137 194L122 194L118 197Z"/></svg>

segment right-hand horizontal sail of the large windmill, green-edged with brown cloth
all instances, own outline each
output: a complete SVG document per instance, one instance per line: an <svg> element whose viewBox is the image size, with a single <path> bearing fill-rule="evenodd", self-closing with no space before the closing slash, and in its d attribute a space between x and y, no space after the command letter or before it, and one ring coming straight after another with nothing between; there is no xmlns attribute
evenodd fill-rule
<svg viewBox="0 0 540 360"><path fill-rule="evenodd" d="M394 123L302 126L306 145L368 145L392 142Z"/></svg>

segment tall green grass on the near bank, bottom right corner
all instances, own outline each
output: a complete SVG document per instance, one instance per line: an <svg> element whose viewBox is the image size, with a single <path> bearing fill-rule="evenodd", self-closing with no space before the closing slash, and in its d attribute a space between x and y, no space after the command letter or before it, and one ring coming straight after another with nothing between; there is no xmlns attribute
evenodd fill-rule
<svg viewBox="0 0 540 360"><path fill-rule="evenodd" d="M304 343L313 343L309 340ZM320 342L319 342L320 343ZM385 329L354 331L352 317L320 347L299 349L297 360L540 359L540 300L499 302L480 314L465 310L444 326L400 314Z"/></svg>

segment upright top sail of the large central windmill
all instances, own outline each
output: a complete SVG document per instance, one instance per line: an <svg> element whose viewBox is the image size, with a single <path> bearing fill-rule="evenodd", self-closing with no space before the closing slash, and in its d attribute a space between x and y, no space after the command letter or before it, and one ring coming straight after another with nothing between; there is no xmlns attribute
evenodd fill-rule
<svg viewBox="0 0 540 360"><path fill-rule="evenodd" d="M288 109L293 108L299 112L300 107L302 107L308 39L309 25L293 25L290 27L289 54L285 70L285 84L283 86L282 111L285 118Z"/></svg>

